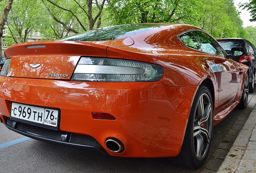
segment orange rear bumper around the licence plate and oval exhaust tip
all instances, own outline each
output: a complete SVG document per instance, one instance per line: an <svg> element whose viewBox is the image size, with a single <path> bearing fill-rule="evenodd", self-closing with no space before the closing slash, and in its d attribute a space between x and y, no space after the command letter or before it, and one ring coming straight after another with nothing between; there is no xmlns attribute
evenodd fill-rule
<svg viewBox="0 0 256 173"><path fill-rule="evenodd" d="M0 118L9 129L41 141L97 148L120 157L178 155L197 89L167 87L160 81L74 82L2 76L0 83ZM59 109L58 131L13 122L9 119L12 102ZM107 113L116 120L93 119L92 113ZM70 142L74 137L82 144ZM84 143L87 138L95 144ZM124 150L109 151L105 146L109 138L121 141Z"/></svg>

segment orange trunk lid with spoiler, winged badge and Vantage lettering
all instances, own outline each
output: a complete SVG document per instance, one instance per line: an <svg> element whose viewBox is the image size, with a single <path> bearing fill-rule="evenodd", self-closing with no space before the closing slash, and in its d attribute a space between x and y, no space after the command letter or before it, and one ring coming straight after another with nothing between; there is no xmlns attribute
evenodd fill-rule
<svg viewBox="0 0 256 173"><path fill-rule="evenodd" d="M14 44L4 54L12 58L11 77L69 80L81 56L106 57L106 49L92 42L44 41Z"/></svg>

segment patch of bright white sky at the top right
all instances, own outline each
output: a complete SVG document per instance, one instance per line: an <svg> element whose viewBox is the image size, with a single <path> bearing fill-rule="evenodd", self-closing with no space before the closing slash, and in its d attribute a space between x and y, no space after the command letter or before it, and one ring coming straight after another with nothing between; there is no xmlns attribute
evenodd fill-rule
<svg viewBox="0 0 256 173"><path fill-rule="evenodd" d="M247 10L242 10L242 8L239 8L238 7L238 4L240 2L242 2L243 4L246 3L246 2L249 2L249 0L233 0L234 1L234 4L235 4L235 7L237 8L237 10L240 13L240 18L243 20L244 22L244 27L246 26L253 26L253 27L256 27L256 22L250 22L249 19L251 18L250 16L250 13L247 11ZM242 10L242 11L241 11Z"/></svg>

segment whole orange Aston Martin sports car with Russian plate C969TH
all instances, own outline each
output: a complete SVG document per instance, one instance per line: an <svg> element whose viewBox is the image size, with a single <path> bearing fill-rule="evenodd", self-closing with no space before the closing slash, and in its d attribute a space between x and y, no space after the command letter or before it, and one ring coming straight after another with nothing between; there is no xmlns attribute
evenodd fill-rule
<svg viewBox="0 0 256 173"><path fill-rule="evenodd" d="M15 44L4 55L8 129L112 156L199 168L213 126L248 102L248 66L191 25L109 26Z"/></svg>

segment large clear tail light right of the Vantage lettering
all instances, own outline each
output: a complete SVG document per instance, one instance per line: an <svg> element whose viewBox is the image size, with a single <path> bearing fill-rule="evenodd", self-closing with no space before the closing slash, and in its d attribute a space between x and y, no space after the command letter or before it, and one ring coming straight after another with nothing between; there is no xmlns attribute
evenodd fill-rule
<svg viewBox="0 0 256 173"><path fill-rule="evenodd" d="M106 82L157 81L163 77L163 67L130 60L82 57L71 80Z"/></svg>

